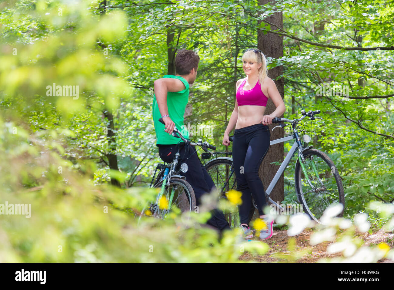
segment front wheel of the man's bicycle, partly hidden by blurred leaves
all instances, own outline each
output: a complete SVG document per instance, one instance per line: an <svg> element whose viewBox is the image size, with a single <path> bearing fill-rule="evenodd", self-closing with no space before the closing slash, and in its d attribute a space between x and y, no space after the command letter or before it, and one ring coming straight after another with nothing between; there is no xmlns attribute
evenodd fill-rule
<svg viewBox="0 0 394 290"><path fill-rule="evenodd" d="M156 183L154 188L160 188L162 184L163 180ZM156 212L151 212L151 215L164 219L167 213L175 207L179 208L182 212L195 210L196 198L193 188L190 183L181 178L171 178L170 184L165 186L162 199L163 198L165 198L167 202L164 202L164 206L162 205L161 208L158 206Z"/></svg>

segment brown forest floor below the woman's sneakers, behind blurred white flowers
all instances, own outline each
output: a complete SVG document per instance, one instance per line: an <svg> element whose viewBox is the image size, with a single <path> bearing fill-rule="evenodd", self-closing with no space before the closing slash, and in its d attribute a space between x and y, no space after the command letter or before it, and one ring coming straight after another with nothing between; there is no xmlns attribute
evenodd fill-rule
<svg viewBox="0 0 394 290"><path fill-rule="evenodd" d="M312 234L311 229L305 229L301 234L289 237L287 230L275 230L273 236L264 241L269 245L268 253L262 256L256 256L256 254L249 254L245 252L240 256L240 260L256 262L295 262L295 263L314 263L321 258L334 258L342 257L342 253L330 254L327 253L327 246L333 242L320 243L318 245L310 245L310 235ZM359 238L364 240L365 245L376 245L381 242L385 242L390 246L390 249L394 247L394 234L385 233L383 230L378 230L372 234L356 234ZM290 241L289 249L288 241ZM261 241L258 236L253 237L250 242ZM295 243L294 243L295 241ZM294 258L297 256L297 258ZM378 263L393 263L392 260L384 258L378 261Z"/></svg>

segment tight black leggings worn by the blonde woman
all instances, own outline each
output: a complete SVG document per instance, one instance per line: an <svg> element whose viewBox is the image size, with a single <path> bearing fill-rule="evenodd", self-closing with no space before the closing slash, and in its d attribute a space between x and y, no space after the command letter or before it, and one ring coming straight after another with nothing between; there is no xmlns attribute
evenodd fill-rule
<svg viewBox="0 0 394 290"><path fill-rule="evenodd" d="M241 224L249 223L252 196L259 215L266 206L264 185L258 176L258 168L267 154L271 133L267 125L255 124L235 129L232 143L232 160L237 180L237 190L242 192L242 204L238 206Z"/></svg>

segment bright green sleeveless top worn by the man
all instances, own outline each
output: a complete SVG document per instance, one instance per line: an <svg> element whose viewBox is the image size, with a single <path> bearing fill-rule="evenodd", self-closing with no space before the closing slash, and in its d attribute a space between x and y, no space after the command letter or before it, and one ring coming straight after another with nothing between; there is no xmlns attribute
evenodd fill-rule
<svg viewBox="0 0 394 290"><path fill-rule="evenodd" d="M189 132L185 129L186 126L183 123L183 115L185 113L186 105L189 101L189 84L186 79L176 75L165 75L163 78L179 79L185 85L185 89L180 92L167 92L167 107L168 114L170 115L171 120L173 120L175 123L177 129L181 131L183 137L189 138ZM162 144L177 144L179 141L181 141L180 138L173 137L165 132L164 124L159 122L161 114L156 101L156 95L153 95L152 117L154 131L156 132L156 146Z"/></svg>

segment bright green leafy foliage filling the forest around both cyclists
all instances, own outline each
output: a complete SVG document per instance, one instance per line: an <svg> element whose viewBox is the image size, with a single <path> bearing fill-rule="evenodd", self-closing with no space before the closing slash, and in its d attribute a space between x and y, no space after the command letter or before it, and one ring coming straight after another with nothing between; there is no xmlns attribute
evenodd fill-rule
<svg viewBox="0 0 394 290"><path fill-rule="evenodd" d="M355 39L362 36L362 47L392 47L392 16L384 3L276 5L286 11L286 34L344 47L359 46ZM144 219L137 225L130 209L155 194L147 189L160 161L151 120L151 88L155 79L166 74L169 46L198 51L201 62L185 123L212 126L213 135L201 138L221 144L234 107L234 84L244 77L242 52L256 47L257 28L274 29L260 20L275 7L255 4L0 3L0 203L32 204L30 218L1 216L1 262L238 260L243 252L234 245L232 234L219 243L216 232L199 226L206 215L193 217L193 227L183 230L182 216ZM323 20L323 30L316 32ZM167 43L169 32L175 35L171 43ZM365 212L374 230L387 221L392 226L392 213L382 216L368 206L371 200L393 202L392 97L355 99L392 94L392 50L333 49L291 37L284 37L284 47L282 58L268 57L269 67L284 67L284 116L296 118L301 109L322 110L324 120L305 123L305 133L341 172L345 217L354 221L357 213ZM79 94L48 95L53 84L78 86ZM319 84L348 85L350 96L318 97ZM105 116L109 111L115 133L112 143L111 122ZM111 144L116 144L119 172L108 166ZM294 164L285 174L289 203L295 201ZM111 177L121 180L122 187L110 187ZM340 226L332 227L340 234ZM354 231L349 229L345 236ZM353 242L361 249L362 243ZM247 250L264 254L268 249L264 243L252 243L245 246ZM299 258L292 256L289 261Z"/></svg>

